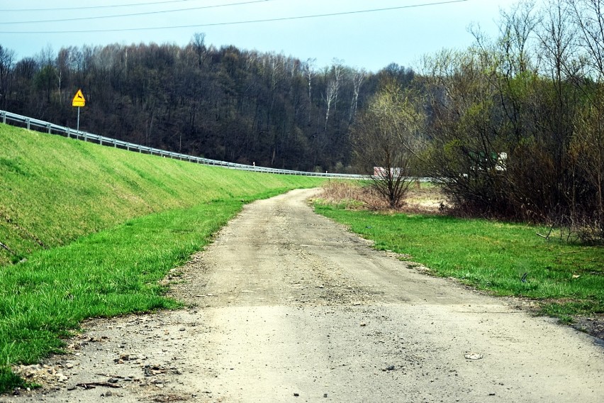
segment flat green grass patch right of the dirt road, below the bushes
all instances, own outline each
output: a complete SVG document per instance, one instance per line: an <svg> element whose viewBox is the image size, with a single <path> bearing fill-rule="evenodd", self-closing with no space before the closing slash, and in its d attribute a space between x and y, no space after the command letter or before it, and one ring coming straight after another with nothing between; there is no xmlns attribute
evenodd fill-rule
<svg viewBox="0 0 604 403"><path fill-rule="evenodd" d="M537 299L544 314L564 321L604 313L602 247L547 241L536 236L546 229L518 223L385 215L321 204L315 209L373 240L379 250L410 255L435 275L496 295Z"/></svg>

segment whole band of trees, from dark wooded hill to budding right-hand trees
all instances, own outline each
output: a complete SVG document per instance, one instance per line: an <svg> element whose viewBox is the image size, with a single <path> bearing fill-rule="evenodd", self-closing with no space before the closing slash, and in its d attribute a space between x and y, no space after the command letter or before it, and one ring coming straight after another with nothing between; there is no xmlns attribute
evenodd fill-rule
<svg viewBox="0 0 604 403"><path fill-rule="evenodd" d="M604 2L521 0L498 22L494 38L472 26L466 49L375 73L215 48L203 33L184 47L46 49L22 60L0 45L0 109L74 127L82 88L92 133L293 170L391 167L434 178L460 214L601 241Z"/></svg>

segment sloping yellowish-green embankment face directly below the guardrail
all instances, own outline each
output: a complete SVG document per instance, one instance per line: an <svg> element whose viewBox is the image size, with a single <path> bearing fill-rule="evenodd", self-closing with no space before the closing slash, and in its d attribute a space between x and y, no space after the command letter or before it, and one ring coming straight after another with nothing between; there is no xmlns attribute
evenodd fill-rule
<svg viewBox="0 0 604 403"><path fill-rule="evenodd" d="M0 265L157 211L317 180L225 170L0 124Z"/></svg>

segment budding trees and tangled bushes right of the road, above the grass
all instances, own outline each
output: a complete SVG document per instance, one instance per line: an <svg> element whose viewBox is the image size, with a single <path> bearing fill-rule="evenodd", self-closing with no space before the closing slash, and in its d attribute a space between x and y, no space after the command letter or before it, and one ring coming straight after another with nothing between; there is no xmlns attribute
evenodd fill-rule
<svg viewBox="0 0 604 403"><path fill-rule="evenodd" d="M466 216L603 245L603 26L599 0L518 1L498 37L474 26L409 82L383 77L352 124L353 165L393 207L422 175Z"/></svg>

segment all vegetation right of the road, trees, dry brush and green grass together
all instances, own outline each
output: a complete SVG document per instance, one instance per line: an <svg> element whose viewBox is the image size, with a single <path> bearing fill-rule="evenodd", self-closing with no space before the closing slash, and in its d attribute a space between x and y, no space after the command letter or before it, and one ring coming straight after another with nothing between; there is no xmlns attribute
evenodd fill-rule
<svg viewBox="0 0 604 403"><path fill-rule="evenodd" d="M498 37L474 26L471 46L426 55L412 80L383 77L350 131L373 177L330 185L317 211L435 275L566 322L600 315L603 337L603 11L518 1ZM439 208L410 200L412 175L437 184Z"/></svg>

